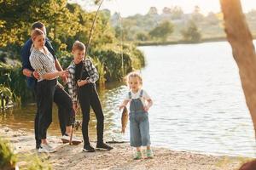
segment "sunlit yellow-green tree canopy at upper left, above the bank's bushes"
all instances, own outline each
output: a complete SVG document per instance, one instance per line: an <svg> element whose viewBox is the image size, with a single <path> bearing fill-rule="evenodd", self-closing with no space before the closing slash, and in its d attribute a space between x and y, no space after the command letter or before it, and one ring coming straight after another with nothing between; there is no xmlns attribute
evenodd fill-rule
<svg viewBox="0 0 256 170"><path fill-rule="evenodd" d="M7 0L0 3L0 14L0 47L14 51L17 57L20 47L30 37L33 22L40 20L45 24L55 51L70 50L77 39L87 42L95 16L95 12L86 13L78 4L67 3L67 0ZM98 14L92 46L114 41L109 17L106 10Z"/></svg>

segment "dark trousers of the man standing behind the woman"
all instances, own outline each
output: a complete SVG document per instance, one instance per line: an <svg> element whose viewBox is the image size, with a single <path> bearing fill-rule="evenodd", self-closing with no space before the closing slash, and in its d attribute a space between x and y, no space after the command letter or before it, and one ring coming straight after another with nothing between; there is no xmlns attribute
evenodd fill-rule
<svg viewBox="0 0 256 170"><path fill-rule="evenodd" d="M34 88L36 98L37 98L37 86ZM61 127L61 134L63 135L66 133L66 127L71 126L72 122L72 111L73 111L73 104L72 100L70 99L67 92L61 87L60 84L55 86L55 93L54 93L54 102L58 107L58 117ZM37 102L38 103L38 102ZM37 146L41 144L41 139L38 136L38 121L39 115L38 111L35 117L34 129L35 129L35 139L37 141Z"/></svg>

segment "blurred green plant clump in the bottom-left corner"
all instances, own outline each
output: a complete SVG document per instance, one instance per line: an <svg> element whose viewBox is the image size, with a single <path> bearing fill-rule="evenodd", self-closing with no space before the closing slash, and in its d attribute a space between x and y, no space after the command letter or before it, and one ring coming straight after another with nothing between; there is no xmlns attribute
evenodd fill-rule
<svg viewBox="0 0 256 170"><path fill-rule="evenodd" d="M0 169L13 169L17 162L17 157L11 150L9 143L0 138Z"/></svg>

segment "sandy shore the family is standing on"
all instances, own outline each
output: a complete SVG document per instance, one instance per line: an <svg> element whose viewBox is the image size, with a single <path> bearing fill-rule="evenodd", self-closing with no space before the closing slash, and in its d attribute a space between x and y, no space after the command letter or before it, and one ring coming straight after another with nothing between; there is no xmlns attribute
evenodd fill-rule
<svg viewBox="0 0 256 170"><path fill-rule="evenodd" d="M38 155L32 133L14 131L0 126L0 137L9 139L19 154L32 153ZM176 169L176 170L234 170L241 166L244 159L230 156L210 156L183 151L173 151L165 148L153 148L154 158L133 160L133 150L129 144L112 144L110 151L97 150L94 153L82 151L83 144L61 144L58 137L49 138L57 152L44 155L44 159L53 169ZM92 145L95 145L92 143ZM39 155L40 156L40 155ZM41 155L42 156L42 155ZM22 162L19 162L22 165Z"/></svg>

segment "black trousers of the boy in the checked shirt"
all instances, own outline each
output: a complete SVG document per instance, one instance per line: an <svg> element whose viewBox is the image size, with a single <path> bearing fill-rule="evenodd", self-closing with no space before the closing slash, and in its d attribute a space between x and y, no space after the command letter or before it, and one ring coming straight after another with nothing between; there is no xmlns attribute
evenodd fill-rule
<svg viewBox="0 0 256 170"><path fill-rule="evenodd" d="M86 84L79 88L79 103L83 112L82 133L84 145L89 145L88 123L90 121L90 106L96 114L97 144L103 143L104 116L102 105L96 92L95 84Z"/></svg>

